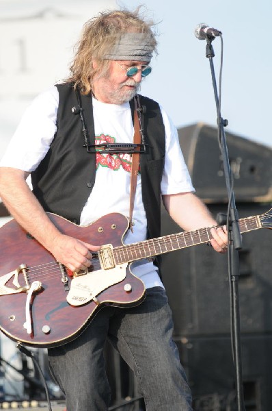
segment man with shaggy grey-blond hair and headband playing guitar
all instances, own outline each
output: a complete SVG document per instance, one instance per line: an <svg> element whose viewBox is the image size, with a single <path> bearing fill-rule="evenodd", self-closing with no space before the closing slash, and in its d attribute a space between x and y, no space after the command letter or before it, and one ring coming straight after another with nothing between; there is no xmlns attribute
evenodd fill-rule
<svg viewBox="0 0 272 411"><path fill-rule="evenodd" d="M139 10L102 12L85 23L70 76L31 103L1 161L3 202L72 277L68 303L79 308L65 320L67 327L77 323L86 288L94 306L100 308L105 301L88 327L82 331L79 324L82 332L49 349L51 371L66 395L68 411L108 409L103 356L107 338L134 371L147 411L191 410L159 262L148 258L159 252L144 247L146 240L161 235L161 199L182 229L213 227L216 222L194 194L176 127L159 103L138 94L157 53L154 25ZM33 190L25 182L29 174ZM124 214L124 244L140 243L139 252L144 253L131 266L130 275L139 284L137 297L134 280L119 279L118 267L122 271L124 263L118 265L117 251L100 249L105 245L101 236L115 247L118 223L109 225L108 234L102 223L94 223L96 236L86 239L63 232L47 212L72 226L88 226L109 213ZM119 221L119 214L114 219ZM215 251L225 253L226 231L209 231ZM79 233L79 227L74 232ZM161 244L161 252L165 247ZM136 246L131 250L137 255ZM101 279L95 286L101 288L95 293L87 279L96 272L98 255ZM127 257L127 262L132 260ZM111 277L106 271L112 266L118 279L108 283L103 274ZM120 296L111 301L103 297L118 284ZM126 301L122 304L126 299L127 306Z"/></svg>

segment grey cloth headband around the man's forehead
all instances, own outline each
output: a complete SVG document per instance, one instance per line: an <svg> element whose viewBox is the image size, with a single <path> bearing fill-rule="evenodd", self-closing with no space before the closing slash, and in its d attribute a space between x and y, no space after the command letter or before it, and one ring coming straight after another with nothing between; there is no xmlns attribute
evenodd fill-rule
<svg viewBox="0 0 272 411"><path fill-rule="evenodd" d="M149 63L154 47L154 38L149 33L124 33L113 46L111 53L105 55L105 59Z"/></svg>

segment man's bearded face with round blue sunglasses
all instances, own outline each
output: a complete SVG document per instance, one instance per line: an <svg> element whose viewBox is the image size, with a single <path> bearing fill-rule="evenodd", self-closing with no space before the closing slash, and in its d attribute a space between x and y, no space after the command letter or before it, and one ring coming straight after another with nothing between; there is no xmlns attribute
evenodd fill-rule
<svg viewBox="0 0 272 411"><path fill-rule="evenodd" d="M141 69L146 65L146 62L111 60L107 73L94 78L93 91L96 99L111 104L122 104L131 100L139 90L142 79ZM139 70L135 75L128 77L127 69L132 66L136 66Z"/></svg>

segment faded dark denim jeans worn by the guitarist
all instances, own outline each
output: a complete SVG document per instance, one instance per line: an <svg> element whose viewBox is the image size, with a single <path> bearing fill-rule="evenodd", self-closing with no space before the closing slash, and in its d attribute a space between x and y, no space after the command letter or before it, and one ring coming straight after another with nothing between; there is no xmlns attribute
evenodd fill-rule
<svg viewBox="0 0 272 411"><path fill-rule="evenodd" d="M172 332L172 312L160 287L148 289L137 307L100 310L78 338L49 349L49 366L66 395L67 411L108 409L107 338L134 371L146 411L191 411L191 391Z"/></svg>

